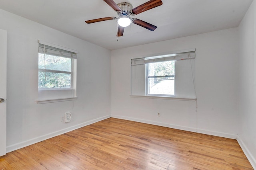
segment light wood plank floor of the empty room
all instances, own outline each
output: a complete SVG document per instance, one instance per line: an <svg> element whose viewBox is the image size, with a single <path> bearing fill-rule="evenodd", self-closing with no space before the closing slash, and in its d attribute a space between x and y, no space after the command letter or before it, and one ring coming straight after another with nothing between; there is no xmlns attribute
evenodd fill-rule
<svg viewBox="0 0 256 170"><path fill-rule="evenodd" d="M0 157L0 170L253 170L234 139L109 118Z"/></svg>

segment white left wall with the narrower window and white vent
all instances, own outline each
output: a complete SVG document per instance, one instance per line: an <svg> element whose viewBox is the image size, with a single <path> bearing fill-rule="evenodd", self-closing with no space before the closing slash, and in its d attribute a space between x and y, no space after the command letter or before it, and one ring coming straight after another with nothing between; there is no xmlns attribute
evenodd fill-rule
<svg viewBox="0 0 256 170"><path fill-rule="evenodd" d="M110 51L0 10L7 30L7 151L110 117ZM38 42L78 51L76 101L37 104ZM72 122L64 123L64 113Z"/></svg>

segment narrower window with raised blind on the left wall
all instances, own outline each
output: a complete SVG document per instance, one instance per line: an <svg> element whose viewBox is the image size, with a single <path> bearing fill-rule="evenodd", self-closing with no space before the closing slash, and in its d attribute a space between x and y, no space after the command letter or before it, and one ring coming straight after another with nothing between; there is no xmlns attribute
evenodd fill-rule
<svg viewBox="0 0 256 170"><path fill-rule="evenodd" d="M38 99L76 97L76 51L48 44L39 43Z"/></svg>

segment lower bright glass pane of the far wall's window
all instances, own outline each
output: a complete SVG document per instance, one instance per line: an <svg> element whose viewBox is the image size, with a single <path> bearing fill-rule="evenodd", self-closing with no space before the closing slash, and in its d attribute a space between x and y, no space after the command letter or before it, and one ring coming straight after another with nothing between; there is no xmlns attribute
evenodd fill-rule
<svg viewBox="0 0 256 170"><path fill-rule="evenodd" d="M148 94L174 95L174 77L148 78Z"/></svg>

